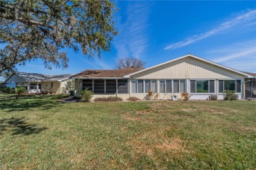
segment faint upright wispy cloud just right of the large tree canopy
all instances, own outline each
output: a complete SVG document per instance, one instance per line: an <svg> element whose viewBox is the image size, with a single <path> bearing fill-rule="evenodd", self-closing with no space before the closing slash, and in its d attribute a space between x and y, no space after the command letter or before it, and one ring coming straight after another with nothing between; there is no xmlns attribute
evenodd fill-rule
<svg viewBox="0 0 256 170"><path fill-rule="evenodd" d="M130 2L127 8L127 19L121 23L121 16L116 25L119 35L113 42L117 50L117 58L140 58L148 46L148 15L150 5L146 1Z"/></svg>

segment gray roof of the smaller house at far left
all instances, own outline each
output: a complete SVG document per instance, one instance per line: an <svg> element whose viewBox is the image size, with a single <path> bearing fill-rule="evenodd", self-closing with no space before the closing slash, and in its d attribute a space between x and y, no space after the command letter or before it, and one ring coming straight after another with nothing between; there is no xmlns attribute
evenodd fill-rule
<svg viewBox="0 0 256 170"><path fill-rule="evenodd" d="M43 74L38 74L38 73L24 73L24 72L16 72L15 74L20 76L20 77L22 77L22 78L24 78L27 81L30 81L30 82L61 81L61 80L64 80L64 79L68 79L68 78L70 78L70 76L74 75L74 74L43 75ZM7 80L9 78L7 78ZM5 81L7 81L7 80L5 80Z"/></svg>

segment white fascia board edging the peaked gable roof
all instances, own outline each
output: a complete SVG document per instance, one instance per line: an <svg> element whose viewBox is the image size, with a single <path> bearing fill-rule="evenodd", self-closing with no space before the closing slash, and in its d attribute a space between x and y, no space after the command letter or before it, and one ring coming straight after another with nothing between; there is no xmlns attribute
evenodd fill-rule
<svg viewBox="0 0 256 170"><path fill-rule="evenodd" d="M123 77L124 77L124 78L129 78L131 75L136 75L136 74L141 73L141 72L143 72L143 71L147 71L148 69L153 69L153 68L155 68L155 67L159 67L159 66L161 66L161 65L165 65L165 64L167 64L167 63L171 63L171 62L173 62L173 61L177 61L177 60L179 60L179 59L187 58L187 57L196 58L196 59L198 59L198 60L200 60L200 61L204 61L205 63L210 63L211 65L215 65L215 66L217 66L217 67L221 67L221 68L223 68L223 69L227 69L227 70L229 70L229 71L238 73L238 74L240 74L240 75L248 76L249 78L253 77L253 76L251 76L251 75L247 75L247 74L245 74L245 73L242 73L241 71L237 71L237 70L235 70L235 69L231 69L230 67L226 67L226 66L221 65L221 64L219 64L219 63L214 63L213 61L209 61L209 60L207 60L207 59L203 59L203 58L200 58L200 57L198 57L198 56L194 56L194 55L192 55L192 54L187 54L187 55L181 56L181 57L179 57L179 58L171 59L171 60L166 61L166 62L164 62L164 63L160 63L160 64L158 64L158 65L154 65L154 66L152 66L152 67L148 67L147 69L142 69L142 70L140 70L140 71L137 71L137 72L135 72L135 73L131 73L131 74L129 74L129 75L125 75L125 76L123 76Z"/></svg>

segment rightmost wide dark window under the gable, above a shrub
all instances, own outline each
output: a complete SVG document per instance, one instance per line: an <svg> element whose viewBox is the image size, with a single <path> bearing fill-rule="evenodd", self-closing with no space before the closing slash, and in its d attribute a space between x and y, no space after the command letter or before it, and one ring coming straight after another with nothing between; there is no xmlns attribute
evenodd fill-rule
<svg viewBox="0 0 256 170"><path fill-rule="evenodd" d="M234 90L236 93L241 93L241 80L219 80L219 93L224 90Z"/></svg>

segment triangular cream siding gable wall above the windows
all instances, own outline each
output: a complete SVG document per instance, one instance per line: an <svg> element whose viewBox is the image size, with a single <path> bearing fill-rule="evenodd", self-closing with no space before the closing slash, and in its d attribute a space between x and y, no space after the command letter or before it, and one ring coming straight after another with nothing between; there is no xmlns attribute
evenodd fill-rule
<svg viewBox="0 0 256 170"><path fill-rule="evenodd" d="M132 75L135 79L165 79L165 78L213 78L213 79L242 79L244 75L222 69L194 58L182 58L153 69Z"/></svg>

